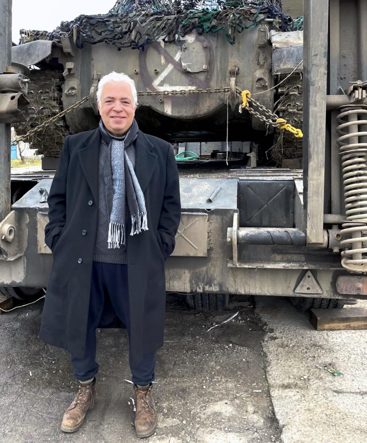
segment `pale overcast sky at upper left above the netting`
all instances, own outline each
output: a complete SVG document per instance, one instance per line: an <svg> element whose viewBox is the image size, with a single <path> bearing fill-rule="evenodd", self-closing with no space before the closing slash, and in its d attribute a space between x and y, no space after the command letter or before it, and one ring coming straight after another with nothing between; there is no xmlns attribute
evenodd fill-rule
<svg viewBox="0 0 367 443"><path fill-rule="evenodd" d="M13 0L12 40L19 43L19 29L53 31L62 21L81 14L106 14L116 0Z"/></svg>

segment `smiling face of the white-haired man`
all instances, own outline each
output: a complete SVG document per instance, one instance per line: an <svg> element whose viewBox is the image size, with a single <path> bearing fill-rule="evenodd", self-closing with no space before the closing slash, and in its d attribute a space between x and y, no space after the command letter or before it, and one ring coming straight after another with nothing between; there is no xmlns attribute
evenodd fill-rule
<svg viewBox="0 0 367 443"><path fill-rule="evenodd" d="M106 83L97 105L108 132L123 136L131 126L136 109L130 85L126 82Z"/></svg>

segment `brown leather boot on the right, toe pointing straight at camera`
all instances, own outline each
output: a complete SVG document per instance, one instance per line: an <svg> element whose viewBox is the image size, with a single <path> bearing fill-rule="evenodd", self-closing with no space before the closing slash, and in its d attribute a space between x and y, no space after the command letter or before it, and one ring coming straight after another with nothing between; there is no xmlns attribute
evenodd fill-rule
<svg viewBox="0 0 367 443"><path fill-rule="evenodd" d="M134 385L135 393L135 431L139 438L149 437L157 427L157 412L152 396L153 385L138 388Z"/></svg>

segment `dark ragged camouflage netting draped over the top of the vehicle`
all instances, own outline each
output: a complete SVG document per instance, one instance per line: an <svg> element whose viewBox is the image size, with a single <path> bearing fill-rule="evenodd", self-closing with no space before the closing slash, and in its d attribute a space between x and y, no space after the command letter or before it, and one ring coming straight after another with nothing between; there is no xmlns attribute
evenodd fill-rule
<svg viewBox="0 0 367 443"><path fill-rule="evenodd" d="M175 42L196 29L197 33L225 33L229 43L236 42L236 33L255 27L267 18L278 23L282 31L291 31L294 20L282 13L280 0L119 0L107 15L79 16L62 22L52 32L21 30L21 43L61 37L75 39L77 47L84 43L107 43L118 50L144 47L158 39ZM297 22L297 28L300 24Z"/></svg>

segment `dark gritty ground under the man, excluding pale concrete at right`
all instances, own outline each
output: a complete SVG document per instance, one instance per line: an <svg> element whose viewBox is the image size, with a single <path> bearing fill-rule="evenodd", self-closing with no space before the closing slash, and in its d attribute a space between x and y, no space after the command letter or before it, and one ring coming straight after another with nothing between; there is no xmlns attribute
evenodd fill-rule
<svg viewBox="0 0 367 443"><path fill-rule="evenodd" d="M251 350L217 341L225 326L207 332L238 310L233 321L244 331L262 329L251 302L234 300L228 311L197 313L187 311L177 295L168 297L166 341L158 352L154 385L159 423L149 442L281 441L261 346ZM121 330L97 333L96 404L77 433L59 430L77 384L66 352L37 338L41 311L42 301L0 315L0 441L139 441L133 429L132 386L124 381L131 376Z"/></svg>

